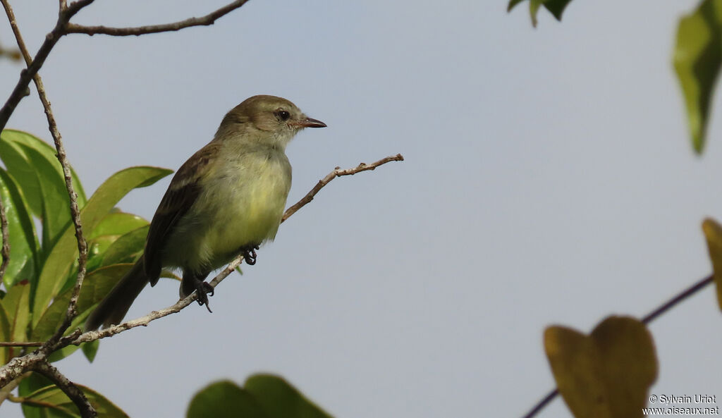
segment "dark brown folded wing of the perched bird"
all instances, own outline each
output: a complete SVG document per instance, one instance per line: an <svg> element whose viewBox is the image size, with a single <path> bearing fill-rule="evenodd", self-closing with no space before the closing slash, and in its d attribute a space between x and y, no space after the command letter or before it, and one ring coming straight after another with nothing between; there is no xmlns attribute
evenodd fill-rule
<svg viewBox="0 0 722 418"><path fill-rule="evenodd" d="M178 225L178 219L181 219L198 199L201 192L199 180L207 173L217 151L216 144L208 144L181 165L153 215L143 254L144 270L151 286L155 286L160 276L161 255L166 240Z"/></svg>

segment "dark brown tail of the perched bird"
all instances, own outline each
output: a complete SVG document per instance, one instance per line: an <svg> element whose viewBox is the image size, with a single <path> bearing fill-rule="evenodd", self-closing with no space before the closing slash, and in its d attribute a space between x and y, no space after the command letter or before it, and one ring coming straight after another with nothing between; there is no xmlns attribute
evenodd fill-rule
<svg viewBox="0 0 722 418"><path fill-rule="evenodd" d="M149 279L143 268L143 257L141 257L90 314L85 321L85 330L92 331L101 325L108 327L121 323L133 301L140 295L148 282Z"/></svg>

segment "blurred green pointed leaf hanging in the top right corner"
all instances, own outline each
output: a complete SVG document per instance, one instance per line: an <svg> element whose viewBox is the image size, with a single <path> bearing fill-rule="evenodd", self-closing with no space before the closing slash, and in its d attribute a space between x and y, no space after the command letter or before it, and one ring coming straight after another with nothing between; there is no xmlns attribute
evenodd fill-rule
<svg viewBox="0 0 722 418"><path fill-rule="evenodd" d="M674 69L687 108L692 147L701 154L722 63L722 0L705 0L679 20Z"/></svg>

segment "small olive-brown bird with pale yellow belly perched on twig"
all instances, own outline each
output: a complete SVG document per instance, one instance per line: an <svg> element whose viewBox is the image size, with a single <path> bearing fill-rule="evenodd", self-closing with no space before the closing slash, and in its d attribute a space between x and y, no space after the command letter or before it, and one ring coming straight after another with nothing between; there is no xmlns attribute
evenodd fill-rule
<svg viewBox="0 0 722 418"><path fill-rule="evenodd" d="M323 128L282 97L253 96L223 118L214 139L193 154L160 201L143 256L85 323L88 330L120 323L147 283L164 268L183 271L181 297L198 291L208 303L208 274L273 240L291 187L286 145L303 128Z"/></svg>

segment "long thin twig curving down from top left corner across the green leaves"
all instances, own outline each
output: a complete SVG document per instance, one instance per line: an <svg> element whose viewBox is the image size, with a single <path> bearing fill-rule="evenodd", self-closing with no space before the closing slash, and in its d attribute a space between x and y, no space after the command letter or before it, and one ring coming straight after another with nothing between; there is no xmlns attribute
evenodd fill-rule
<svg viewBox="0 0 722 418"><path fill-rule="evenodd" d="M0 0L5 8L5 12L7 14L8 20L10 22L10 26L12 27L12 32L15 35L15 39L17 40L17 46L20 48L20 52L22 53L22 56L25 58L25 62L28 66L32 64L30 61L30 53L27 52L27 47L25 46L25 41L22 39L22 35L20 34L19 27L17 26L17 21L15 19L15 14L12 11L12 7L9 4L8 0ZM77 2L76 2L77 3ZM74 4L76 4L74 3ZM74 6L74 4L71 4L71 7ZM63 13L61 12L61 15ZM60 328L56 331L56 334L51 337L51 339L48 340L47 345L50 347L51 345L55 344L58 339L64 334L66 329L70 326L70 323L73 321L73 318L77 315L77 304L78 304L78 295L80 294L80 287L82 286L83 279L85 277L85 264L87 261L87 242L85 241L85 238L83 237L83 230L82 230L82 224L80 221L80 209L78 207L78 195L75 193L75 189L73 187L73 178L71 175L70 165L68 162L68 159L65 154L65 147L63 145L63 139L60 134L60 131L58 131L58 125L55 121L55 117L53 116L53 110L51 109L50 101L48 100L47 95L45 95L45 87L43 86L43 79L40 78L40 74L35 73L32 76L33 81L35 82L35 88L38 90L38 96L40 97L40 102L43 103L43 109L45 110L45 116L48 119L48 128L50 129L50 133L53 136L53 141L55 142L55 148L57 150L56 156L58 157L58 161L60 162L60 165L63 170L63 175L65 178L65 188L68 191L68 196L70 199L70 215L73 219L73 225L75 226L75 238L77 239L78 243L78 275L77 279L75 281L75 287L73 288L72 295L70 297L70 302L68 304L68 310L66 313L65 321L61 324Z"/></svg>

